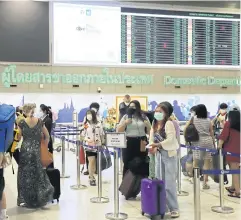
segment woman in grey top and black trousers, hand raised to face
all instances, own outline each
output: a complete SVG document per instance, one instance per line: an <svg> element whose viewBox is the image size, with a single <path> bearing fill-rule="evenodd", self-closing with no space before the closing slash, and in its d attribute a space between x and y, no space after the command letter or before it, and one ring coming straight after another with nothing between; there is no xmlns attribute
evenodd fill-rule
<svg viewBox="0 0 241 220"><path fill-rule="evenodd" d="M129 169L129 162L136 157L144 158L147 151L142 152L141 144L147 141L146 134L149 134L151 124L149 119L143 114L138 101L130 102L127 114L124 115L117 127L118 132L126 132L127 148L122 150L123 155L123 176Z"/></svg>

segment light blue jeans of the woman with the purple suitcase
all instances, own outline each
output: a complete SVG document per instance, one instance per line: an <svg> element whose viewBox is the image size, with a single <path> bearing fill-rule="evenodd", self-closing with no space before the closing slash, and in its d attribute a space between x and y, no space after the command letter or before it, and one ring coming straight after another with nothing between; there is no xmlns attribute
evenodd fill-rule
<svg viewBox="0 0 241 220"><path fill-rule="evenodd" d="M169 157L166 150L156 153L156 178L165 181L167 208L169 211L178 211L177 202L177 157Z"/></svg>

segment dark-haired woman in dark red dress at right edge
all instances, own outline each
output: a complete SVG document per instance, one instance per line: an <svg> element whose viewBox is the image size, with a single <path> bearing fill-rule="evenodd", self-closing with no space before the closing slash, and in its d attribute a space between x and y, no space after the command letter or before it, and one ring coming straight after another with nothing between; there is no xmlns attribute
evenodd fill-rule
<svg viewBox="0 0 241 220"><path fill-rule="evenodd" d="M240 155L240 112L230 111L228 121L225 123L219 136L218 147L225 151ZM231 170L240 169L240 157L226 156L226 162ZM230 197L240 198L240 175L232 175L231 187L226 187Z"/></svg>

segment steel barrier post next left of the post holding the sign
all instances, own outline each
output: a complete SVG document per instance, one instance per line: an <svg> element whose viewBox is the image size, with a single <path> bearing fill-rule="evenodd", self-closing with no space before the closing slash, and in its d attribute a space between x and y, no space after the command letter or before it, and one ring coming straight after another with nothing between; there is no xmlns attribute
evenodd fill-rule
<svg viewBox="0 0 241 220"><path fill-rule="evenodd" d="M101 167L101 146L98 146L97 152L97 168L98 168L98 197L90 199L92 203L108 203L109 198L102 197L102 167Z"/></svg>

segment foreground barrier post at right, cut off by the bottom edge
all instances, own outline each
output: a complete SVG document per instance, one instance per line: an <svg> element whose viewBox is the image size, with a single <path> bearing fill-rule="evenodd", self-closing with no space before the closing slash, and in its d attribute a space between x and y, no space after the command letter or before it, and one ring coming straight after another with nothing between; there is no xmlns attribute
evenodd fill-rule
<svg viewBox="0 0 241 220"><path fill-rule="evenodd" d="M200 169L193 169L193 191L194 191L194 220L201 220L200 204Z"/></svg>

